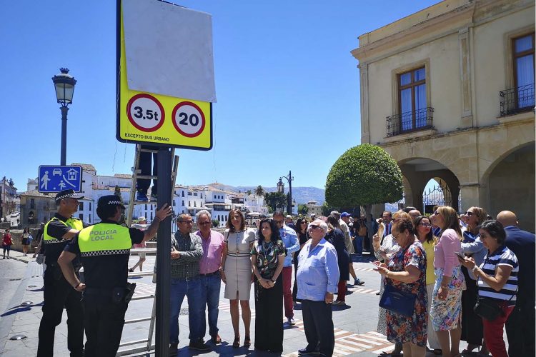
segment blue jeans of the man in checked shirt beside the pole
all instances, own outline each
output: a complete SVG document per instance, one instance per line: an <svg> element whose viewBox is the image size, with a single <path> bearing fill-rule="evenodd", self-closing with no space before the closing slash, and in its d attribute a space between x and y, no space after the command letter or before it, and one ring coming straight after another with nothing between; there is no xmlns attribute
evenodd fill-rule
<svg viewBox="0 0 536 357"><path fill-rule="evenodd" d="M201 279L199 276L192 280L172 278L171 296L169 297L169 310L172 314L169 321L169 343L179 343L179 313L184 296L188 298L188 323L190 340L199 340L204 335L201 323L204 321L204 308L201 298Z"/></svg>

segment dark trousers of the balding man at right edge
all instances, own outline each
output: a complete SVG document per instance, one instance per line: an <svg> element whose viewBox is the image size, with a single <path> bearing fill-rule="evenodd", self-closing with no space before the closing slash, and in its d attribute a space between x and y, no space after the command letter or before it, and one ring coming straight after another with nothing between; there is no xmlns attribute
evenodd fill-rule
<svg viewBox="0 0 536 357"><path fill-rule="evenodd" d="M517 300L506 321L508 356L536 356L535 301Z"/></svg>

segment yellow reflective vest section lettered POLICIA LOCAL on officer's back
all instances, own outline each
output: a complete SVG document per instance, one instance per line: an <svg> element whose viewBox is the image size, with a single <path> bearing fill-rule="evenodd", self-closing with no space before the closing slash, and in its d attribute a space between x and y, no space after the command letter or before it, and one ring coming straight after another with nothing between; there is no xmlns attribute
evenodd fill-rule
<svg viewBox="0 0 536 357"><path fill-rule="evenodd" d="M128 254L132 241L129 228L115 223L96 223L78 235L80 256L110 256Z"/></svg>

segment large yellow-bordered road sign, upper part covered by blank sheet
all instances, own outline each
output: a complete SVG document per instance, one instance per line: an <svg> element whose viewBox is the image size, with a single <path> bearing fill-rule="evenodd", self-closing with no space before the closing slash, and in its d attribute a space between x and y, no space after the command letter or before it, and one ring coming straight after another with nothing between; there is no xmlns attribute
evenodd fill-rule
<svg viewBox="0 0 536 357"><path fill-rule="evenodd" d="M155 2L154 6L157 7L154 10L152 1L120 1L119 4L122 8L119 11L121 15L118 19L117 36L117 71L119 74L117 87L119 91L119 105L116 119L116 139L121 142L135 144L154 144L156 146L174 146L195 150L212 149L212 103L210 101L194 100L199 98L187 99L178 98L177 96L173 96L173 94L166 95L170 94L165 91L169 90L168 82L174 81L174 71L162 69L162 73L160 73L159 66L154 64L149 67L145 66L147 61L153 61L155 58L167 58L166 56L169 56L169 53L163 54L162 51L174 50L177 51L177 54L169 56L169 58L176 58L177 61L166 60L164 63L184 64L184 66L197 63L199 57L192 59L184 57L185 54L192 56L192 51L182 47L184 42L177 44L177 42L169 38L169 35L170 32L182 34L184 31L189 33L197 31L197 27L192 25L194 23L186 24L181 20L183 18L180 16L187 16L187 19L195 19L197 18L196 16L199 16L201 24L206 24L203 21L207 14L199 14L198 11L172 4L163 5L159 1ZM134 8L127 6L134 6L137 11L133 11ZM165 11L163 11L164 6L166 7ZM155 12L158 16L149 16L147 13L151 11L158 11ZM153 19L153 17L154 19L159 19L157 23L150 24L150 26L144 24ZM135 26L131 24L133 21L135 22ZM167 26L186 26L186 28L170 31L166 26L160 27L158 21L169 21ZM139 26L142 26L142 24L144 24L143 26L147 25L147 27L144 27L144 30L138 34L136 31L141 31ZM194 26L195 31L189 28L192 26ZM212 36L212 27L210 30ZM144 39L158 39L158 44L164 43L166 46L160 46L158 56L155 54L155 56L152 56L152 59L148 60L145 55L154 52L151 49L152 43L149 41L149 44L147 44L147 42L144 42ZM168 41L165 41L165 39L168 39ZM199 44L199 46L204 48L207 45ZM127 51L129 48L137 49L134 52L135 55ZM210 42L210 48L207 57L212 59L212 41ZM129 55L129 58L127 58L127 55ZM145 77L147 76L147 72L154 72L154 79L147 79ZM210 76L207 75L206 77ZM184 87L188 85L187 81L181 79L186 79L186 77L179 76L177 83L173 84L172 87ZM154 91L162 89L165 94L140 91L140 86L152 88ZM203 98L207 97L205 96ZM209 98L207 100L212 99Z"/></svg>

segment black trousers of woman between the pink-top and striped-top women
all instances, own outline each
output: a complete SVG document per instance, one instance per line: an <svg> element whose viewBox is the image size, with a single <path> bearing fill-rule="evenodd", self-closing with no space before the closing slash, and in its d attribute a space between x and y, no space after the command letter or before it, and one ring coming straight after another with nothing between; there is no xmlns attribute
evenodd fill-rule
<svg viewBox="0 0 536 357"><path fill-rule="evenodd" d="M482 318L473 310L478 299L477 281L470 278L465 266L462 266L462 273L467 286L467 290L462 292L462 341L470 345L482 346L482 338L484 338Z"/></svg>

